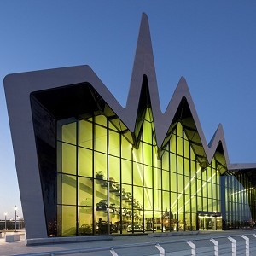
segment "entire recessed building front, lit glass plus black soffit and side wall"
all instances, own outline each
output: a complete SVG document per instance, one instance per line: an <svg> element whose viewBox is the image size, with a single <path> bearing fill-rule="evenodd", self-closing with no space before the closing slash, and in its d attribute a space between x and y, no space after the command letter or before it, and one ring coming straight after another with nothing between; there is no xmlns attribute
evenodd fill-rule
<svg viewBox="0 0 256 256"><path fill-rule="evenodd" d="M32 95L48 236L255 225L253 170L227 170L221 142L207 161L185 99L159 147L146 82L134 132L88 84Z"/></svg>

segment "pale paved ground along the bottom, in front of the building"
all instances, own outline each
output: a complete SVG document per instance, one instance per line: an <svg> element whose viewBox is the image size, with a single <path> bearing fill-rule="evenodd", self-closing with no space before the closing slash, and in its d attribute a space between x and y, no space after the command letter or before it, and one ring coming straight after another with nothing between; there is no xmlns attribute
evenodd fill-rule
<svg viewBox="0 0 256 256"><path fill-rule="evenodd" d="M213 244L209 239L215 238L219 242L219 255L231 255L231 242L226 238L236 238L236 255L246 255L245 240L241 235L250 238L250 255L256 255L256 230L225 230L204 231L198 235L148 237L148 236L113 236L112 241L90 241L78 243L62 243L55 245L25 246L25 236L20 241L6 243L0 238L0 255L84 255L104 256L112 255L109 251L114 248L118 255L160 255L155 244L160 243L166 250L166 256L191 255L191 249L186 241L193 241L196 245L196 255L214 255ZM136 247L134 247L136 245Z"/></svg>

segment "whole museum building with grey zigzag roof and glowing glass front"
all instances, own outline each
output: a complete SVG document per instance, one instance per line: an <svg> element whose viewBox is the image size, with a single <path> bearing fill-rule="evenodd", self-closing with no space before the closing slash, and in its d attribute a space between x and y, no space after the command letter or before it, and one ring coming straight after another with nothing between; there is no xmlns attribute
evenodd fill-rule
<svg viewBox="0 0 256 256"><path fill-rule="evenodd" d="M88 66L4 87L27 238L255 224L256 164L230 164L222 125L207 144L185 79L161 112L147 15L125 108Z"/></svg>

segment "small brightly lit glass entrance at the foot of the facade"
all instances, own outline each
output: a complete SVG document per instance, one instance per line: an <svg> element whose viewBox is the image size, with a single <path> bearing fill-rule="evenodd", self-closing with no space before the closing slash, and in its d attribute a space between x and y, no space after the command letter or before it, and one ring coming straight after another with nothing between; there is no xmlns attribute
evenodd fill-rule
<svg viewBox="0 0 256 256"><path fill-rule="evenodd" d="M222 216L219 212L200 212L197 223L198 230L222 230Z"/></svg>

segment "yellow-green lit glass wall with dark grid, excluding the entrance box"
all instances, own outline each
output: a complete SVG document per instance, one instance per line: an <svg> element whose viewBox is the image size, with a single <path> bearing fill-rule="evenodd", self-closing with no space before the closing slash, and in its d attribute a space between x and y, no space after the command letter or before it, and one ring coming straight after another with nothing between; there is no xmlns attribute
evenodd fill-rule
<svg viewBox="0 0 256 256"><path fill-rule="evenodd" d="M104 115L59 121L58 236L197 230L198 212L220 212L216 160L201 169L181 123L157 148L147 108L137 139Z"/></svg>

